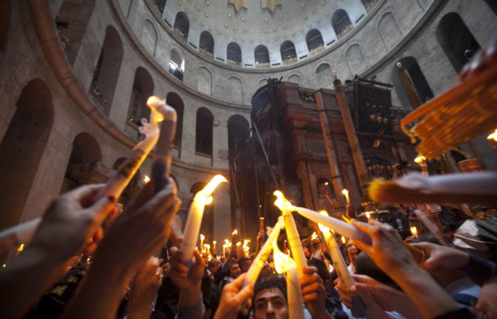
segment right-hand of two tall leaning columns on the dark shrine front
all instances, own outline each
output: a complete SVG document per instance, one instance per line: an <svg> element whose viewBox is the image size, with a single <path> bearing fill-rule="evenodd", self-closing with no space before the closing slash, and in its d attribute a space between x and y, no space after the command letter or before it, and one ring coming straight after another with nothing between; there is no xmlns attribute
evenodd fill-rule
<svg viewBox="0 0 497 319"><path fill-rule="evenodd" d="M342 113L342 118L344 120L345 131L347 133L347 138L349 138L349 145L352 152L352 157L354 158L354 164L356 165L356 171L359 175L359 183L361 184L362 195L364 198L368 197L368 169L366 169L366 163L364 163L364 158L362 157L361 145L359 145L359 139L357 138L356 128L354 128L354 122L352 121L352 116L350 114L349 105L346 101L344 90L342 89L342 82L337 79L337 74L333 74L334 77L334 88L337 94L338 104L340 106L340 112Z"/></svg>

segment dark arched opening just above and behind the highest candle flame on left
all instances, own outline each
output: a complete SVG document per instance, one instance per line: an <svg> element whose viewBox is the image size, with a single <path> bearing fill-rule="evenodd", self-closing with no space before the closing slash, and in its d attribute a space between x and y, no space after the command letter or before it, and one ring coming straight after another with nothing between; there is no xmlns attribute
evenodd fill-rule
<svg viewBox="0 0 497 319"><path fill-rule="evenodd" d="M141 118L150 118L151 110L147 100L153 95L153 79L146 69L138 67L133 81L133 90L129 101L128 121L133 125L141 125Z"/></svg>

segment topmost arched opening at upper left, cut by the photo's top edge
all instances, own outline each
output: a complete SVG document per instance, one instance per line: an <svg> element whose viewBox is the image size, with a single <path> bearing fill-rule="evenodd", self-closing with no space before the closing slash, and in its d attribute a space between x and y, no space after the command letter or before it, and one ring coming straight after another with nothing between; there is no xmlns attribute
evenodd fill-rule
<svg viewBox="0 0 497 319"><path fill-rule="evenodd" d="M74 65L94 6L95 0L65 0L55 17L55 26L70 65Z"/></svg>

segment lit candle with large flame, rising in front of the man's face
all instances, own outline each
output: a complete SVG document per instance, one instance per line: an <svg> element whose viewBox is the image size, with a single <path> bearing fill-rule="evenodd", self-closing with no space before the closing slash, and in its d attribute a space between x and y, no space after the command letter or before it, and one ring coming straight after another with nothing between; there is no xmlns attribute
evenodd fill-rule
<svg viewBox="0 0 497 319"><path fill-rule="evenodd" d="M286 274L286 290L288 293L288 318L305 318L304 301L302 299L302 290L300 289L300 277L297 264L293 261L292 258L290 258L290 256L280 252L275 241L273 242L273 250L276 272L278 272L278 274Z"/></svg>

